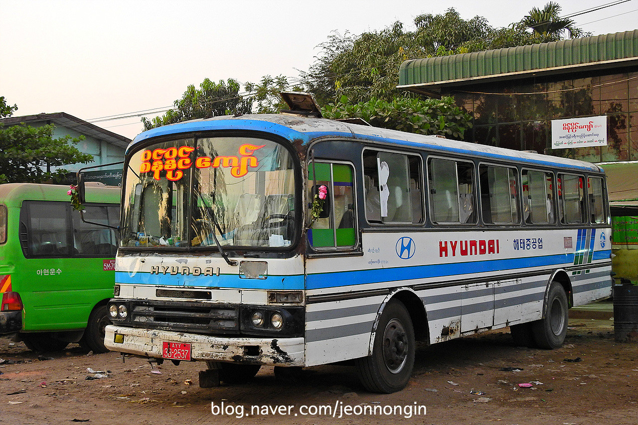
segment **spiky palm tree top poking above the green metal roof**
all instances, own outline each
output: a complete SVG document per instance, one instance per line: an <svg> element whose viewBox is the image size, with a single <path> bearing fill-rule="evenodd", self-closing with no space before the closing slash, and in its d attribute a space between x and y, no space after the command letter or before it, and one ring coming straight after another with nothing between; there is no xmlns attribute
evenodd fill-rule
<svg viewBox="0 0 638 425"><path fill-rule="evenodd" d="M563 40L565 32L569 38L584 36L584 31L575 26L574 20L560 17L560 10L560 4L550 1L542 9L530 10L529 15L521 20L521 26L531 29L540 43Z"/></svg>

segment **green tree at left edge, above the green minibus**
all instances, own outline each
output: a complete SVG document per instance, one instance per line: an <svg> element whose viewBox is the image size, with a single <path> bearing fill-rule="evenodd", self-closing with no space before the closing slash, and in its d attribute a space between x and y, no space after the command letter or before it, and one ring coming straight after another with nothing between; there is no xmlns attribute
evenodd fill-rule
<svg viewBox="0 0 638 425"><path fill-rule="evenodd" d="M0 97L0 118L10 117L17 109ZM93 161L93 156L72 146L84 136L53 138L53 130L53 125L32 127L22 123L5 127L0 123L0 183L43 183L67 172L48 172L47 167Z"/></svg>

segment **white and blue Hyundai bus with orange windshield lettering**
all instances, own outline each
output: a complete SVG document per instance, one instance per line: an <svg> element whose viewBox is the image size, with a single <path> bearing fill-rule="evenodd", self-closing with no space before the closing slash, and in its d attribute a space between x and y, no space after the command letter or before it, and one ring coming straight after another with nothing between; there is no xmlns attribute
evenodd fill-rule
<svg viewBox="0 0 638 425"><path fill-rule="evenodd" d="M605 187L591 163L321 117L145 131L105 345L205 361L202 386L352 361L374 392L405 387L419 340L557 348L568 308L611 294Z"/></svg>

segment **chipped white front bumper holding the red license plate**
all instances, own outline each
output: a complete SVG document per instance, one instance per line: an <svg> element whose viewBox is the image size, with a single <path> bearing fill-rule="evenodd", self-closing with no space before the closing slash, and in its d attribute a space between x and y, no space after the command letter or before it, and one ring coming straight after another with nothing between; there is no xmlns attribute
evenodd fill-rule
<svg viewBox="0 0 638 425"><path fill-rule="evenodd" d="M115 343L115 334L123 335L124 342ZM111 351L161 359L164 341L189 343L193 361L304 366L304 338L221 337L108 325L104 345Z"/></svg>

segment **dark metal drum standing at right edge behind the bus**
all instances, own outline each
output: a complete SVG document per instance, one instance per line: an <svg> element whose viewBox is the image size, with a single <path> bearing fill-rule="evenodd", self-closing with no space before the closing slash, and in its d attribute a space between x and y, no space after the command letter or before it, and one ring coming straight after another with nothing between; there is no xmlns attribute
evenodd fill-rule
<svg viewBox="0 0 638 425"><path fill-rule="evenodd" d="M614 339L638 342L638 286L614 285Z"/></svg>

